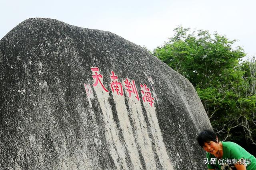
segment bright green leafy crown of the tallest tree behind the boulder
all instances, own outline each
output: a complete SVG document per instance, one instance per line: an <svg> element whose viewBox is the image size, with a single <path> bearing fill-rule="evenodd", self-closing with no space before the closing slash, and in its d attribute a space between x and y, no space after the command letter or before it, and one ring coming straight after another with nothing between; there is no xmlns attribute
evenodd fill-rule
<svg viewBox="0 0 256 170"><path fill-rule="evenodd" d="M194 86L224 84L227 78L231 78L239 59L245 56L243 49L232 49L236 40L230 41L218 33L212 38L208 31L199 30L195 35L195 31L190 34L189 30L183 27L174 29L174 37L156 48L153 54L188 78Z"/></svg>

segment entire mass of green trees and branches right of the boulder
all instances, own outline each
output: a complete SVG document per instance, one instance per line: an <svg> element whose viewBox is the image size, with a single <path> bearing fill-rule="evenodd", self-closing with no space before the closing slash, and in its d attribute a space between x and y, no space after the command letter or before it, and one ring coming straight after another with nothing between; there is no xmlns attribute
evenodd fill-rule
<svg viewBox="0 0 256 170"><path fill-rule="evenodd" d="M241 47L233 48L235 42L180 26L153 54L194 85L222 140L240 145L246 141L245 148L256 149L255 57L239 63L245 53Z"/></svg>

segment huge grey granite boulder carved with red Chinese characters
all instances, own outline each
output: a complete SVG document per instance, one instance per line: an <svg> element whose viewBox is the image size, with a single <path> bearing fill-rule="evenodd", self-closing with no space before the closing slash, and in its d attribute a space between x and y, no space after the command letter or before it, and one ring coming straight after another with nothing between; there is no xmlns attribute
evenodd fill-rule
<svg viewBox="0 0 256 170"><path fill-rule="evenodd" d="M192 84L107 31L28 19L0 41L3 169L205 169Z"/></svg>

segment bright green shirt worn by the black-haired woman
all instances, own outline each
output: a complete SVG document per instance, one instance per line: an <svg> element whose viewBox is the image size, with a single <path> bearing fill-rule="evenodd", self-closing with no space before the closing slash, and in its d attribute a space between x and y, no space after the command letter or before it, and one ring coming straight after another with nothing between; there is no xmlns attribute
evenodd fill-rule
<svg viewBox="0 0 256 170"><path fill-rule="evenodd" d="M233 142L221 142L223 147L223 156L221 159L224 160L225 163L218 164L218 161L220 159L216 159L216 157L209 152L206 154L206 158L209 162L205 163L207 164L208 169L216 169L216 170L226 170L230 167L234 166L234 161L239 159L247 160L245 161L246 170L256 170L256 158L247 152L244 148L240 147L240 145L233 143ZM212 162L210 162L212 158ZM248 162L248 159L250 159L250 164ZM214 162L216 160L216 163Z"/></svg>

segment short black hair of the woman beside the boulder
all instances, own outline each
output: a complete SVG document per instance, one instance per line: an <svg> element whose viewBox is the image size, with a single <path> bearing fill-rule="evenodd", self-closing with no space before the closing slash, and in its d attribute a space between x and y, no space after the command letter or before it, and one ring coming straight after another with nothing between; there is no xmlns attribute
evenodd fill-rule
<svg viewBox="0 0 256 170"><path fill-rule="evenodd" d="M214 141L217 143L217 139L216 139L217 135L216 133L214 133L214 131L211 130L203 130L202 132L200 132L197 135L196 140L198 141L198 144L203 147L204 143L208 143L210 141Z"/></svg>

